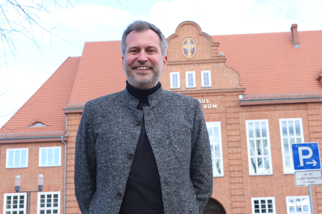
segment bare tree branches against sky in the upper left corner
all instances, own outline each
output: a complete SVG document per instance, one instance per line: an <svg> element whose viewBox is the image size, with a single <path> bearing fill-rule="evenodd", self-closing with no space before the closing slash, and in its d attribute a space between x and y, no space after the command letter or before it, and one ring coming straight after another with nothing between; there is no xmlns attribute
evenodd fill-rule
<svg viewBox="0 0 322 214"><path fill-rule="evenodd" d="M7 54L11 53L15 56L17 47L14 41L19 34L32 41L41 52L42 49L34 30L41 30L42 38L43 32L46 32L50 37L62 39L52 33L52 30L58 26L48 27L47 23L44 23L41 18L46 13L51 13L49 9L51 6L53 6L52 9L63 8L62 3L66 3L66 9L69 5L72 7L71 0L5 0L0 3L0 18L3 20L0 23L0 36L3 45L3 49L0 49L0 52L2 52L0 57L4 57L6 62ZM71 42L68 43L72 44Z"/></svg>

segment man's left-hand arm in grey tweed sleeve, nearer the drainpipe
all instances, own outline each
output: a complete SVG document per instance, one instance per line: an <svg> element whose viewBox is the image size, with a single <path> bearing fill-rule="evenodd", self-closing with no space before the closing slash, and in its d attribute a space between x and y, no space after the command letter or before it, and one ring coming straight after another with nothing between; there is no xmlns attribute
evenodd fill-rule
<svg viewBox="0 0 322 214"><path fill-rule="evenodd" d="M86 213L96 191L95 137L91 119L86 103L75 145L75 196L82 213Z"/></svg>

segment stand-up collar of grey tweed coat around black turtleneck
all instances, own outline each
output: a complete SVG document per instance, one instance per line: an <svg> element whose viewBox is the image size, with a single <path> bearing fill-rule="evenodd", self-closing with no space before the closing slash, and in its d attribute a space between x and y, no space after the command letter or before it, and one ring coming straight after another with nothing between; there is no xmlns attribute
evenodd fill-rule
<svg viewBox="0 0 322 214"><path fill-rule="evenodd" d="M128 90L125 88L123 91L123 101L124 104L131 107L131 108L137 108L137 105L139 104L139 100L135 97L133 97ZM147 99L149 100L149 104L151 107L154 107L159 101L161 101L164 97L164 90L162 89L162 85L156 92L153 94L149 95Z"/></svg>

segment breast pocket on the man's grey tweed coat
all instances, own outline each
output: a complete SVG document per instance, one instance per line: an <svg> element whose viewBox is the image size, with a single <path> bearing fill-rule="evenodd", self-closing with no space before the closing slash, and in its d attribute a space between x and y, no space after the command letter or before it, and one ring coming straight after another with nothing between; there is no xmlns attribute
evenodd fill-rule
<svg viewBox="0 0 322 214"><path fill-rule="evenodd" d="M181 162L190 162L191 133L175 132L170 134L170 141L175 157Z"/></svg>

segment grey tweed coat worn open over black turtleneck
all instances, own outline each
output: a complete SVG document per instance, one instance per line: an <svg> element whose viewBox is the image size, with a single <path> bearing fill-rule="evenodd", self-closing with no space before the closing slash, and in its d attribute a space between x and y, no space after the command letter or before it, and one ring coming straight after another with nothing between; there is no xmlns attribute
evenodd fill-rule
<svg viewBox="0 0 322 214"><path fill-rule="evenodd" d="M199 101L161 87L148 100L150 106L137 110L138 100L125 89L86 103L75 148L75 195L82 213L118 213L143 112L164 212L200 213L206 205L213 175Z"/></svg>

